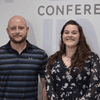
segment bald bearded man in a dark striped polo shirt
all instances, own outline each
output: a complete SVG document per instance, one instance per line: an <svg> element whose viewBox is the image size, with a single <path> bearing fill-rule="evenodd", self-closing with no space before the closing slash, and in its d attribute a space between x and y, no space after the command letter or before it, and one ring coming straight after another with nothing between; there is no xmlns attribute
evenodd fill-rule
<svg viewBox="0 0 100 100"><path fill-rule="evenodd" d="M43 84L41 100L47 100L47 54L26 40L29 27L23 17L13 16L6 30L10 41L0 47L0 100L38 100L38 74Z"/></svg>

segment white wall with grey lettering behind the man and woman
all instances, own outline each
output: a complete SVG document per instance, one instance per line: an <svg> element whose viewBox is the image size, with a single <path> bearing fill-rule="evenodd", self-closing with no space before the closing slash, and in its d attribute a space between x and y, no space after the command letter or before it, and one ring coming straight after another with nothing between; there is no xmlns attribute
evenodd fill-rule
<svg viewBox="0 0 100 100"><path fill-rule="evenodd" d="M64 23L76 20L91 50L100 57L100 0L0 0L0 46L9 40L6 27L14 15L26 19L30 28L27 39L48 55L59 50ZM39 100L41 87L39 83Z"/></svg>

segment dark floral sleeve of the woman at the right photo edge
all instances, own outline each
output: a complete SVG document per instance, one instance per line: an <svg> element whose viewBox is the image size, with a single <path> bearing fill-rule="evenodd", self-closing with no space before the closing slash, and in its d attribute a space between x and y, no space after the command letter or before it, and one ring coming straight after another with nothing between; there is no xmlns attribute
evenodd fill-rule
<svg viewBox="0 0 100 100"><path fill-rule="evenodd" d="M100 100L100 59L97 54L92 55L91 58L89 88L79 100Z"/></svg>

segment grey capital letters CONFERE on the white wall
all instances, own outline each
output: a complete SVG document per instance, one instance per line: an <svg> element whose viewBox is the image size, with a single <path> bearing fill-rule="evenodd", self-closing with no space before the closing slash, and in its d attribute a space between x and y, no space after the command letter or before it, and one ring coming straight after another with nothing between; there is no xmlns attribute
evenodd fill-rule
<svg viewBox="0 0 100 100"><path fill-rule="evenodd" d="M43 15L70 15L71 13L74 13L75 15L100 15L100 4L76 4L76 5L48 5L48 6L39 6L38 7L38 14L40 16Z"/></svg>

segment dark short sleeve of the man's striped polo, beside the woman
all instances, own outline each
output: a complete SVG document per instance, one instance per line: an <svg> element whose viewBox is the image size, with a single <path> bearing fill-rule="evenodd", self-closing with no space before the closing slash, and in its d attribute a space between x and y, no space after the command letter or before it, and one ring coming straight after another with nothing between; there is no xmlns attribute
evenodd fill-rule
<svg viewBox="0 0 100 100"><path fill-rule="evenodd" d="M46 64L47 64L47 59L48 59L48 56L47 54L44 52L43 54L43 57L42 57L42 64L38 70L39 72L39 75L40 75L40 78L45 78L45 67L46 67Z"/></svg>

